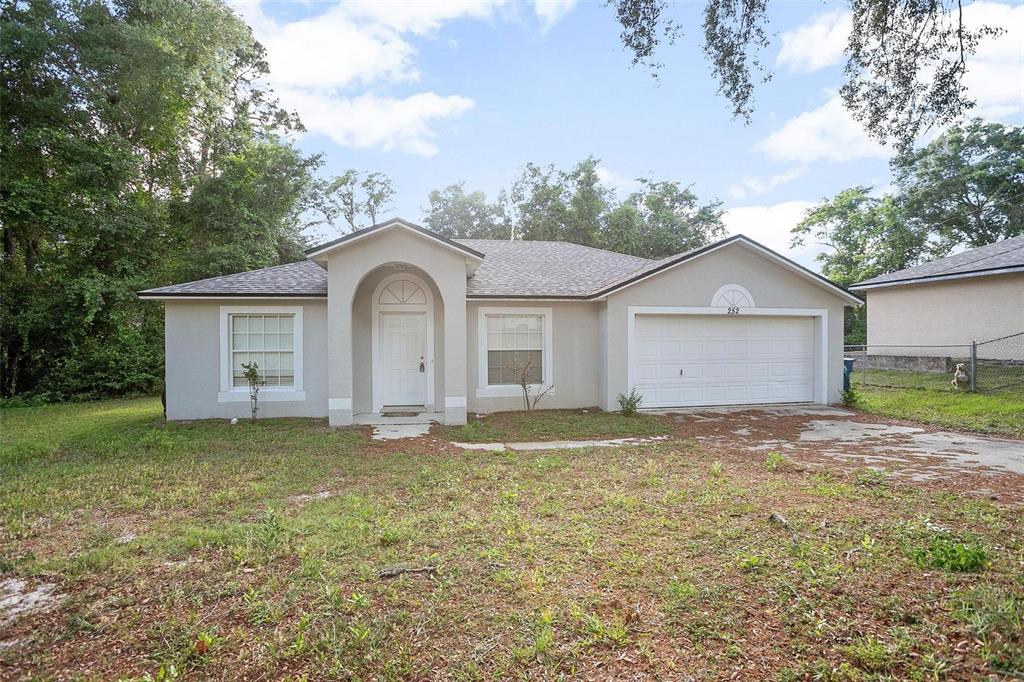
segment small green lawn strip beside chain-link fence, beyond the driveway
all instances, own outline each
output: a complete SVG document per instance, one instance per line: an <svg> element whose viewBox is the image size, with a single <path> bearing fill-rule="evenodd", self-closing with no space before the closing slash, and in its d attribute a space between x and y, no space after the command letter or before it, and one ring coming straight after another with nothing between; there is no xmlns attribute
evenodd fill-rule
<svg viewBox="0 0 1024 682"><path fill-rule="evenodd" d="M1024 368L1010 368L998 378L1013 381ZM983 385L996 377L979 371ZM860 410L945 428L1024 438L1024 381L991 391L954 391L950 375L901 370L854 373ZM999 381L997 383L1002 383Z"/></svg>

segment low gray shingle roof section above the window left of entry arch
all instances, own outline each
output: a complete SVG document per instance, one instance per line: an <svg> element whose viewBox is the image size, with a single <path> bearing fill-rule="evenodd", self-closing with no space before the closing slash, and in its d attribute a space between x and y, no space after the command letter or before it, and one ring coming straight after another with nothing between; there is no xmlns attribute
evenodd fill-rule
<svg viewBox="0 0 1024 682"><path fill-rule="evenodd" d="M164 296L327 296L327 270L311 260L219 278L157 287L138 292L141 298Z"/></svg>

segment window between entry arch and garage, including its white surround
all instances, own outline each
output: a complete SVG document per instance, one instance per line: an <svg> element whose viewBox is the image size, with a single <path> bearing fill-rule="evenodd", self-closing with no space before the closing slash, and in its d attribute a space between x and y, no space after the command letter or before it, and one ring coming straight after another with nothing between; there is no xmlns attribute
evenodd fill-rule
<svg viewBox="0 0 1024 682"><path fill-rule="evenodd" d="M477 324L478 393L514 394L523 377L529 385L551 384L550 308L481 308Z"/></svg>

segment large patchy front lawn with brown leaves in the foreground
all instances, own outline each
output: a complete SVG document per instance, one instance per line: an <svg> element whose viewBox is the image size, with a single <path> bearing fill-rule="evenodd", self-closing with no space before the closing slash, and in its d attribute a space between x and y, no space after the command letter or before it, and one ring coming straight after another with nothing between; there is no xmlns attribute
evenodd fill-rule
<svg viewBox="0 0 1024 682"><path fill-rule="evenodd" d="M881 475L679 434L498 454L321 420L166 424L153 399L3 411L0 438L0 573L63 595L0 628L19 640L0 679L1024 670L1019 509ZM404 563L436 574L378 578Z"/></svg>

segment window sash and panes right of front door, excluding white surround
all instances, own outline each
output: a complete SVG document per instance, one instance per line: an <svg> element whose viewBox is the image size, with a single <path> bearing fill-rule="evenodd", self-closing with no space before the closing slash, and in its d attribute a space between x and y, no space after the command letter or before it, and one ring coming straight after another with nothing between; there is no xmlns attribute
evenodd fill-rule
<svg viewBox="0 0 1024 682"><path fill-rule="evenodd" d="M487 385L544 383L544 315L488 314Z"/></svg>

